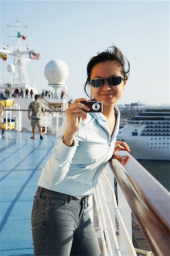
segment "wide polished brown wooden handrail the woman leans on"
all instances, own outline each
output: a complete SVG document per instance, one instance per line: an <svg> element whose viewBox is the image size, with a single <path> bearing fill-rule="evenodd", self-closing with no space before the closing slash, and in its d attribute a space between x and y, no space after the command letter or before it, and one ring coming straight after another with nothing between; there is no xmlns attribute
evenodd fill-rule
<svg viewBox="0 0 170 256"><path fill-rule="evenodd" d="M109 162L152 253L169 256L169 192L126 151Z"/></svg>

